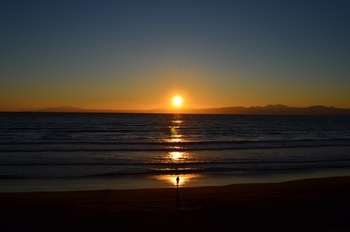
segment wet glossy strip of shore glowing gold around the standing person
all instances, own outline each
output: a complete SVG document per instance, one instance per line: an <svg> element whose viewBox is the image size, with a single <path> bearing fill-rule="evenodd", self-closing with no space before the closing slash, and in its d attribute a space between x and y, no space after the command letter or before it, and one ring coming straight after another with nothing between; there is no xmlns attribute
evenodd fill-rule
<svg viewBox="0 0 350 232"><path fill-rule="evenodd" d="M173 188L176 177L180 187L224 186L231 184L281 183L286 181L350 176L348 168L289 170L237 174L162 174L126 177L62 178L62 179L0 179L0 193L65 192L89 190L129 190Z"/></svg>

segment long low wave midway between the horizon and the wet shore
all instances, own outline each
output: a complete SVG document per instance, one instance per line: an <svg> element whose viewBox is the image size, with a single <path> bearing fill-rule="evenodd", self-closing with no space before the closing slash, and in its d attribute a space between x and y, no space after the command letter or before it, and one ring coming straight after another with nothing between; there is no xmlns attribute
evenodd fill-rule
<svg viewBox="0 0 350 232"><path fill-rule="evenodd" d="M231 140L185 142L30 141L0 142L0 152L199 151L350 146L350 139Z"/></svg>

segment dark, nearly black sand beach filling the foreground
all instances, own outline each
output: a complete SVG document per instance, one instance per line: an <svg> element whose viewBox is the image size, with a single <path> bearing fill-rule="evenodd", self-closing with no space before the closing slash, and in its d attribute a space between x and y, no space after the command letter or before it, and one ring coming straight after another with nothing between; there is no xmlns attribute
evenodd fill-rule
<svg viewBox="0 0 350 232"><path fill-rule="evenodd" d="M0 193L1 231L350 231L350 177L221 187ZM7 228L3 230L4 228Z"/></svg>

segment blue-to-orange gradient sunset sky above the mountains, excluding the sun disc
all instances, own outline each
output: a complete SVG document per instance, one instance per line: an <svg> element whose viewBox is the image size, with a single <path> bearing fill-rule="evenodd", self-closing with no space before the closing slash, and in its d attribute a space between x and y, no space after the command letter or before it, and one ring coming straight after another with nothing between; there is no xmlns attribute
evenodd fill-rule
<svg viewBox="0 0 350 232"><path fill-rule="evenodd" d="M0 111L350 108L350 1L2 1Z"/></svg>

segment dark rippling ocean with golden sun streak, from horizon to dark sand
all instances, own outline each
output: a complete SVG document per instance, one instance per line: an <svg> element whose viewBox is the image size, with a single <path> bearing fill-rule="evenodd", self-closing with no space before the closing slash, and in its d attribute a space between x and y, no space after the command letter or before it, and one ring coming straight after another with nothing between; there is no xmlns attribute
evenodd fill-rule
<svg viewBox="0 0 350 232"><path fill-rule="evenodd" d="M350 117L0 113L0 191L350 175Z"/></svg>

